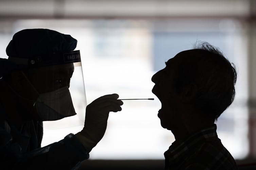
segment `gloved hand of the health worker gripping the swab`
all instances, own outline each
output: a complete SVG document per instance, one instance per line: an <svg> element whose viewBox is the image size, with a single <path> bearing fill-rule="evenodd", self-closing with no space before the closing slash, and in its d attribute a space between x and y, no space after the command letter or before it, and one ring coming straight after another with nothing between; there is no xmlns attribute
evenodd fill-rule
<svg viewBox="0 0 256 170"><path fill-rule="evenodd" d="M121 111L123 105L117 100L118 94L105 95L97 98L86 107L85 126L82 131L76 134L78 140L84 145L87 152L103 138L109 112Z"/></svg>

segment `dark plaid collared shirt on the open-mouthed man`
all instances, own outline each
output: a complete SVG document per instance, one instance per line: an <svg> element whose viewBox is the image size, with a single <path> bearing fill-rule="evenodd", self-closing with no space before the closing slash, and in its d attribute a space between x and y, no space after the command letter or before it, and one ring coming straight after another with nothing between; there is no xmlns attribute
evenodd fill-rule
<svg viewBox="0 0 256 170"><path fill-rule="evenodd" d="M165 170L237 170L234 158L222 145L216 129L214 124L182 143L173 142L164 153Z"/></svg>

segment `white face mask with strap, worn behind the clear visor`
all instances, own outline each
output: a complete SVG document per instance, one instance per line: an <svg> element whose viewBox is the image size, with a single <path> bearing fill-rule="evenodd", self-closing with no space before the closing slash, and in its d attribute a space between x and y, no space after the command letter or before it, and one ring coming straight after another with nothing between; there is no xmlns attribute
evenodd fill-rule
<svg viewBox="0 0 256 170"><path fill-rule="evenodd" d="M34 107L41 121L59 120L65 117L76 115L69 88L63 87L53 92L39 94L30 80L26 80L39 95Z"/></svg>

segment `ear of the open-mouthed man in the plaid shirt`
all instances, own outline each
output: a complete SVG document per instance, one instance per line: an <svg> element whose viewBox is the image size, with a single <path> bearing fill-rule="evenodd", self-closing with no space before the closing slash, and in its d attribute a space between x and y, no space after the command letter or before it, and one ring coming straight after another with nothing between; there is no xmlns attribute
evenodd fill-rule
<svg viewBox="0 0 256 170"><path fill-rule="evenodd" d="M181 101L183 103L192 102L198 94L198 87L196 84L189 84L183 87Z"/></svg>

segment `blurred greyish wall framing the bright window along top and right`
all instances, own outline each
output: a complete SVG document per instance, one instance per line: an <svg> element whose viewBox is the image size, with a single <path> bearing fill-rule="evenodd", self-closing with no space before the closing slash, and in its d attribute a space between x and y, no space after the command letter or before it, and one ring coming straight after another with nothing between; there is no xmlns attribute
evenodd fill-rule
<svg viewBox="0 0 256 170"><path fill-rule="evenodd" d="M248 158L256 157L256 2L254 0L1 0L0 32L15 29L15 21L26 19L135 19L135 20L189 20L226 19L239 21L243 27L241 46L246 56L239 60L248 66L248 98L238 105L249 110ZM157 23L157 22L156 22ZM74 22L73 24L76 24ZM157 27L157 24L155 24ZM72 25L70 25L72 27ZM75 25L74 25L75 27ZM162 28L158 28L162 29ZM191 28L192 29L192 28ZM2 37L2 39L9 37ZM159 39L157 39L159 40ZM5 47L0 47L5 51ZM238 75L239 76L239 75Z"/></svg>

